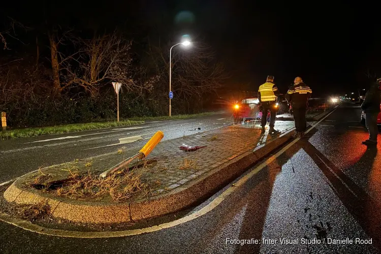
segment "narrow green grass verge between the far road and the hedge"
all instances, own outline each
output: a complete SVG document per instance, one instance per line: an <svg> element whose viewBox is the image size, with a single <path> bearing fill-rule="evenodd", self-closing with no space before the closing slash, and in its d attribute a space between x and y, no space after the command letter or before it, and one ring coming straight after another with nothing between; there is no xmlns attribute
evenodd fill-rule
<svg viewBox="0 0 381 254"><path fill-rule="evenodd" d="M134 125L144 123L146 120L169 120L169 119L187 119L192 117L201 117L213 115L215 112L206 112L200 114L188 114L188 115L174 115L169 116L152 116L152 117L133 117L128 120L109 121L109 122L88 122L88 123L72 123L65 125L56 125L40 128L25 128L9 130L5 134L0 133L0 139L14 139L14 138L28 138L34 136L51 135L51 134L63 134L79 131L89 131L104 129L116 126Z"/></svg>

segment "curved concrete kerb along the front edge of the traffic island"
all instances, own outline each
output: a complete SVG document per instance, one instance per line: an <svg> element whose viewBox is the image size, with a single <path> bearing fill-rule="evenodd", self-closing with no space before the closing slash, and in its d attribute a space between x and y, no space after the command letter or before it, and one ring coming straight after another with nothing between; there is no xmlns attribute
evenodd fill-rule
<svg viewBox="0 0 381 254"><path fill-rule="evenodd" d="M142 202L100 204L92 201L52 198L38 190L23 189L25 175L12 183L4 193L4 197L8 202L17 204L46 201L51 206L54 217L80 223L122 223L165 215L206 200L253 164L287 142L292 136L292 130L255 151L253 149L256 147L250 147L246 152L236 154L230 161L214 168L205 176L175 188L165 195L152 197Z"/></svg>

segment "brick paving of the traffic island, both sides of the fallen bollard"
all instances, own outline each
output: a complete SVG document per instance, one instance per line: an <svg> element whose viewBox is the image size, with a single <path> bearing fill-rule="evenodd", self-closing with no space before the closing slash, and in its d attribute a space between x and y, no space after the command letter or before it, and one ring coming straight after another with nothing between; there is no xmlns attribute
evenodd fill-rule
<svg viewBox="0 0 381 254"><path fill-rule="evenodd" d="M261 135L259 124L259 121L249 121L244 124L160 142L147 157L147 160L152 159L156 163L153 166L135 169L135 171L141 174L143 182L148 183L153 196L167 193L192 180L197 180L234 157L250 149L263 146L276 138L268 135L268 132ZM293 121L275 123L275 129L281 132L287 132L292 128L294 128ZM179 149L182 144L206 147L186 152ZM81 173L91 171L99 174L121 162L123 158L134 155L138 150L124 150L122 154L115 151L93 158L55 165L42 169L41 172L52 173L56 179L67 177L69 169ZM91 166L88 166L89 162L91 162ZM135 198L139 199L139 196Z"/></svg>

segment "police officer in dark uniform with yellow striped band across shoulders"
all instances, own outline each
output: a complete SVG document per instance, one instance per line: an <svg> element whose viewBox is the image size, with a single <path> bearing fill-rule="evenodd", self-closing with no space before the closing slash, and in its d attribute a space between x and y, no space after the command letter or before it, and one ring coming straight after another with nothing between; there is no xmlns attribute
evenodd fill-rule
<svg viewBox="0 0 381 254"><path fill-rule="evenodd" d="M311 88L303 83L301 77L296 77L294 85L290 87L285 95L286 101L291 104L295 121L294 137L303 138L307 129L306 112L308 107L308 99L312 94Z"/></svg>

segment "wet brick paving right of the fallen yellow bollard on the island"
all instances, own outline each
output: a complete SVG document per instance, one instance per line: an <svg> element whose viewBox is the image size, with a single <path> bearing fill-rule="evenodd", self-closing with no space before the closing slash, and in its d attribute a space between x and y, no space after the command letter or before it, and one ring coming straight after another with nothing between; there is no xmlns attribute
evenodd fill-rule
<svg viewBox="0 0 381 254"><path fill-rule="evenodd" d="M275 129L286 132L294 128L294 122L277 121ZM212 169L232 160L239 154L256 146L269 142L273 137L260 135L259 122L246 122L197 135L186 136L162 142L148 158L158 163L143 172L143 179L157 182L152 188L153 194L161 194L189 183ZM185 152L179 149L182 144L188 146L206 146L197 151Z"/></svg>

